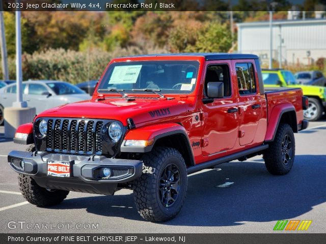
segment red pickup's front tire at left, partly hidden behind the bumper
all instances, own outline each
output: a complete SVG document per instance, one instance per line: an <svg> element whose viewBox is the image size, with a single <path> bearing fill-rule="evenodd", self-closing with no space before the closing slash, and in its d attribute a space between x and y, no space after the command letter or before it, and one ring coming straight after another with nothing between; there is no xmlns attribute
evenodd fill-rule
<svg viewBox="0 0 326 244"><path fill-rule="evenodd" d="M34 145L30 145L26 151L34 152ZM69 191L53 190L49 191L37 185L36 181L29 175L19 174L18 185L23 197L30 203L39 207L53 206L61 203L68 195Z"/></svg>

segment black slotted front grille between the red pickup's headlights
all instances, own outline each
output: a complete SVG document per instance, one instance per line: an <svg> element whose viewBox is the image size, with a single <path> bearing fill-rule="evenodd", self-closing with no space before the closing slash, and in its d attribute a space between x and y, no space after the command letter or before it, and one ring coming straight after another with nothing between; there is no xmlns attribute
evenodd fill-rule
<svg viewBox="0 0 326 244"><path fill-rule="evenodd" d="M71 154L102 154L103 121L47 120L46 150Z"/></svg>

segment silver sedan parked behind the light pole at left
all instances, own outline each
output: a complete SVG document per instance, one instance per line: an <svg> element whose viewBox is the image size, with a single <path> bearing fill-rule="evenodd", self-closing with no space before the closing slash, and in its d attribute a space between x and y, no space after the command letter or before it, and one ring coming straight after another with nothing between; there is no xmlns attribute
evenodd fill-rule
<svg viewBox="0 0 326 244"><path fill-rule="evenodd" d="M4 108L11 107L16 101L16 88L16 84L10 84L0 89L0 125L4 121ZM29 107L35 107L36 113L91 98L84 90L62 81L24 81L22 90L23 100Z"/></svg>

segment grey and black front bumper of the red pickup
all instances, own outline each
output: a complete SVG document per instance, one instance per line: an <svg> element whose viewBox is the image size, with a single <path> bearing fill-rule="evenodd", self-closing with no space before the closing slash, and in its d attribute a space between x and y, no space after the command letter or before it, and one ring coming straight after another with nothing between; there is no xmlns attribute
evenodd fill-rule
<svg viewBox="0 0 326 244"><path fill-rule="evenodd" d="M24 167L19 167L21 160ZM48 160L70 162L70 177L48 176ZM143 162L139 160L66 155L46 151L35 153L11 151L8 155L8 164L17 173L31 175L37 184L44 188L104 195L113 195L118 183L126 183L140 177L143 170ZM113 174L107 178L100 177L98 171L101 167L110 168Z"/></svg>

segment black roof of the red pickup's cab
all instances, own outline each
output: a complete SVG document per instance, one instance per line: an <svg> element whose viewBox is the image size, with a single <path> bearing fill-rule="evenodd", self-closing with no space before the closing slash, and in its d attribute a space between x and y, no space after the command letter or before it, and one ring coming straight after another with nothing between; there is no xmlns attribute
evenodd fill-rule
<svg viewBox="0 0 326 244"><path fill-rule="evenodd" d="M254 54L239 54L239 53L205 53L205 52L194 52L194 53L162 53L162 54L145 54L135 55L128 57L160 57L160 56L202 56L208 60L223 60L223 59L258 59L257 55Z"/></svg>

